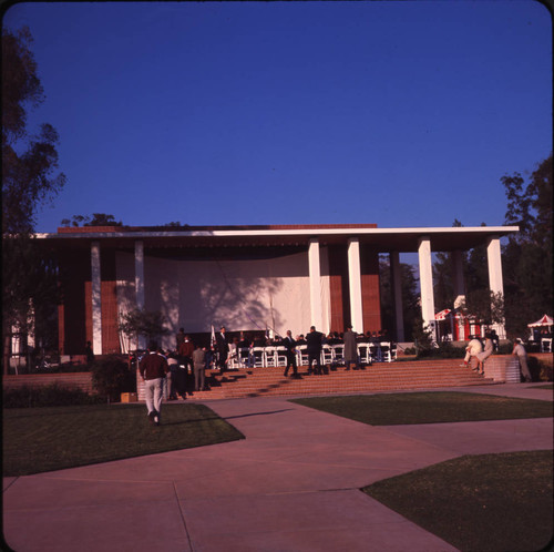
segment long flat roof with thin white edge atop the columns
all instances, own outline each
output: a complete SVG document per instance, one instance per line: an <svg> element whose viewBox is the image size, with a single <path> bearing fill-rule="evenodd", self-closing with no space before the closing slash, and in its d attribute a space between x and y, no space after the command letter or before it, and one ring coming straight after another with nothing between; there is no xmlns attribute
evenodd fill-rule
<svg viewBox="0 0 554 552"><path fill-rule="evenodd" d="M100 241L115 248L133 248L141 239L144 247L236 247L236 246L307 246L312 238L321 245L347 244L358 237L379 252L413 253L423 237L431 249L445 252L472 249L491 237L519 232L517 226L461 226L378 228L376 224L310 224L253 226L84 226L58 228L57 233L37 234L55 247L89 247Z"/></svg>

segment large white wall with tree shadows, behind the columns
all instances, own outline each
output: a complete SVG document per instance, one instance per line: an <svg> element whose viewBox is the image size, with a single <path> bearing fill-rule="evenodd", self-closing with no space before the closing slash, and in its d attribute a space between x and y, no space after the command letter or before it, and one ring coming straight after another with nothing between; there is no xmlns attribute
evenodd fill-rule
<svg viewBox="0 0 554 552"><path fill-rule="evenodd" d="M322 248L324 249L324 248ZM324 318L329 313L327 255L321 257ZM134 256L116 255L117 303L125 313L135 305ZM274 328L306 334L310 326L308 257L298 253L254 260L174 260L145 257L145 308L161 310L172 335L162 346L174 344L179 327L185 331ZM325 328L319 328L325 331Z"/></svg>

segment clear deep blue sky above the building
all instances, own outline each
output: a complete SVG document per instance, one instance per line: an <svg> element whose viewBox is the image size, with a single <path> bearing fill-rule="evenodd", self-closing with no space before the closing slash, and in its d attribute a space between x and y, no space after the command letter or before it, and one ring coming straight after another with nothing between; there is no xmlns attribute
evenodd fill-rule
<svg viewBox="0 0 554 552"><path fill-rule="evenodd" d="M552 23L522 1L20 3L60 133L38 219L501 225L552 151Z"/></svg>

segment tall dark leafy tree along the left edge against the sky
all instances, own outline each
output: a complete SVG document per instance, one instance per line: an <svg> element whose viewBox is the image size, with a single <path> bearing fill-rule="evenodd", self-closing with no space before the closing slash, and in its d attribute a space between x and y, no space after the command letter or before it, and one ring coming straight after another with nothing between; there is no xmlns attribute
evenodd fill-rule
<svg viewBox="0 0 554 552"><path fill-rule="evenodd" d="M35 247L39 209L65 183L58 173L58 133L44 123L27 127L29 108L44 100L28 28L2 29L2 335L8 371L12 328L27 331L35 314L55 304L55 260ZM58 174L57 174L58 173ZM37 329L37 328L35 328Z"/></svg>

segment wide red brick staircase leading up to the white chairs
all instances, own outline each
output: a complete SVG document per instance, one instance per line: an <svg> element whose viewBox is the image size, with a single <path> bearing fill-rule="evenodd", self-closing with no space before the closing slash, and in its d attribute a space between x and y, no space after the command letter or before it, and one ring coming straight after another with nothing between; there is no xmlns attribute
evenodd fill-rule
<svg viewBox="0 0 554 552"><path fill-rule="evenodd" d="M494 381L460 366L461 359L376 362L360 370L327 367L322 376L308 376L307 367L299 368L299 379L284 377L284 368L245 368L219 376L212 371L211 390L188 396L192 400L230 399L245 397L302 396L432 389L493 385ZM208 371L206 376L211 372Z"/></svg>

